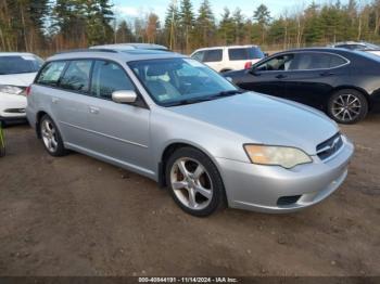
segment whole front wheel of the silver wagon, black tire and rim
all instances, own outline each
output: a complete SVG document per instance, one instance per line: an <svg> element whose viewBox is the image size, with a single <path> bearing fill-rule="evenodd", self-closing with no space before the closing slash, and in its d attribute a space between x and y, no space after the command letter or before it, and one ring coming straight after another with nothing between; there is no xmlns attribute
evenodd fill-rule
<svg viewBox="0 0 380 284"><path fill-rule="evenodd" d="M225 188L213 162L202 152L182 147L166 163L166 184L177 205L195 217L206 217L225 205Z"/></svg>

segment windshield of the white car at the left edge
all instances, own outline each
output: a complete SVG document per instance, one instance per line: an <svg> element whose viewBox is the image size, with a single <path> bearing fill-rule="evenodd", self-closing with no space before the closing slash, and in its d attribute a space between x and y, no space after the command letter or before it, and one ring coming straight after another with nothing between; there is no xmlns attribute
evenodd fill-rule
<svg viewBox="0 0 380 284"><path fill-rule="evenodd" d="M0 75L36 73L43 61L34 55L0 56Z"/></svg>

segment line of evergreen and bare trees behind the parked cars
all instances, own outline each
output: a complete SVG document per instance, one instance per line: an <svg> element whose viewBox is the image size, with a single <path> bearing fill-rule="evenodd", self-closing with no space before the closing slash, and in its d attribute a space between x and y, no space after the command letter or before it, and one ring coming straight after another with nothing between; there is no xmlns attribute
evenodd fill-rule
<svg viewBox="0 0 380 284"><path fill-rule="evenodd" d="M270 50L343 40L380 40L380 0L312 2L276 17L265 4L253 5L252 12L226 8L216 15L210 0L198 8L191 0L168 0L165 18L154 11L123 18L110 0L0 0L1 51L49 54L92 44L152 42L189 53L215 44L255 43Z"/></svg>

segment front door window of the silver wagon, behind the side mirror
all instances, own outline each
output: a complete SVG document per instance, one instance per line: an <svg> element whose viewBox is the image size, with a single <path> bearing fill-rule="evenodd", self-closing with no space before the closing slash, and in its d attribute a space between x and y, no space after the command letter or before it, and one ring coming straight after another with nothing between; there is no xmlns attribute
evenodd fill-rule
<svg viewBox="0 0 380 284"><path fill-rule="evenodd" d="M112 100L112 93L121 90L135 90L125 70L115 63L97 61L92 73L91 95Z"/></svg>

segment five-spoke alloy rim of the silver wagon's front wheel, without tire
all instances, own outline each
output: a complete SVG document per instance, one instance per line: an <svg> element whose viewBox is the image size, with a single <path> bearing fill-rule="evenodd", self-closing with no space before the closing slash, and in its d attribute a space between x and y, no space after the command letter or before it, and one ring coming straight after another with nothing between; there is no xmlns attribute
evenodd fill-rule
<svg viewBox="0 0 380 284"><path fill-rule="evenodd" d="M202 210L213 198L213 183L210 175L195 159L176 160L170 171L170 183L177 198L190 209Z"/></svg>

